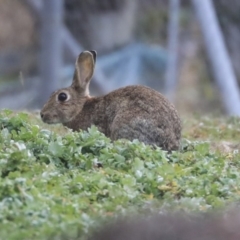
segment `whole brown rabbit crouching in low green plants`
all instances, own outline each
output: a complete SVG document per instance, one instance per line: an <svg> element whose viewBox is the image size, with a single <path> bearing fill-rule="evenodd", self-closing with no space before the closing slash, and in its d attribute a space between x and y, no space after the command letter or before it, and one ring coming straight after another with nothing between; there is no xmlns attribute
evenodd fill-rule
<svg viewBox="0 0 240 240"><path fill-rule="evenodd" d="M62 123L74 131L97 126L112 140L138 139L164 150L177 150L181 122L174 106L157 91L127 86L101 97L89 95L95 51L84 51L76 60L72 85L54 92L41 110L46 123Z"/></svg>

